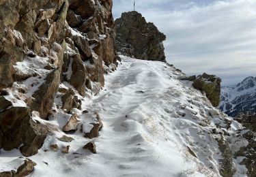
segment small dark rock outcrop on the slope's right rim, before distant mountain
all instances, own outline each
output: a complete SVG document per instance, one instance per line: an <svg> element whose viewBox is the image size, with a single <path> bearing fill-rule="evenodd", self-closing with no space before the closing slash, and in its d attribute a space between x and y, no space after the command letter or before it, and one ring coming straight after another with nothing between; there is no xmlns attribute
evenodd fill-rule
<svg viewBox="0 0 256 177"><path fill-rule="evenodd" d="M212 103L212 106L217 107L220 103L221 95L221 78L214 75L203 74L199 76L183 77L180 80L189 80L193 82L194 88L205 92L206 97Z"/></svg>

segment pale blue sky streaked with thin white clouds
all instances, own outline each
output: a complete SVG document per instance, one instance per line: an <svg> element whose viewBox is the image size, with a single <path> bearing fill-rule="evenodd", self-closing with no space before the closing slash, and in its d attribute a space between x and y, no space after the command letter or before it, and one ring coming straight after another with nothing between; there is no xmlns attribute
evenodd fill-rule
<svg viewBox="0 0 256 177"><path fill-rule="evenodd" d="M133 0L113 0L113 16ZM256 0L136 0L135 10L167 35L167 61L188 76L206 72L223 86L256 76Z"/></svg>

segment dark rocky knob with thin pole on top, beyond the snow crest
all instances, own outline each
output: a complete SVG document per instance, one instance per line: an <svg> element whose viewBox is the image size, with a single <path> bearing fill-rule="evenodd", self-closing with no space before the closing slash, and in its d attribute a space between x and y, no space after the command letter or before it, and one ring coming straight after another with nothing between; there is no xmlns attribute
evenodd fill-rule
<svg viewBox="0 0 256 177"><path fill-rule="evenodd" d="M119 52L143 60L165 61L166 39L152 22L146 22L138 12L124 12L115 20L115 46Z"/></svg>

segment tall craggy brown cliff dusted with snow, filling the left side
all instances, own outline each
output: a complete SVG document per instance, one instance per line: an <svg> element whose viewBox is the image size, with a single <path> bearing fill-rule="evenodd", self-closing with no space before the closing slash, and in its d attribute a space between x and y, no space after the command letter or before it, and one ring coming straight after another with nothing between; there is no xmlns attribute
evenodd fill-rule
<svg viewBox="0 0 256 177"><path fill-rule="evenodd" d="M57 109L81 109L81 98L104 86L104 72L118 59L111 0L0 1L0 148L38 152ZM111 67L113 68L113 67ZM5 99L10 92L16 102ZM60 97L60 98L61 98ZM9 119L8 119L9 118ZM26 130L26 131L25 131Z"/></svg>

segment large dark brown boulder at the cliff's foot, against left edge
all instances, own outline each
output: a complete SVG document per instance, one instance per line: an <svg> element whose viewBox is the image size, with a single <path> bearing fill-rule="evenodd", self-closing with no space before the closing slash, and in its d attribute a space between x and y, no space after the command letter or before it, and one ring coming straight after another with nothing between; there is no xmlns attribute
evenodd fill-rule
<svg viewBox="0 0 256 177"><path fill-rule="evenodd" d="M29 108L25 107L12 107L0 112L0 128L1 147L4 150L20 147L25 157L35 155L47 135L46 127L34 122Z"/></svg>

